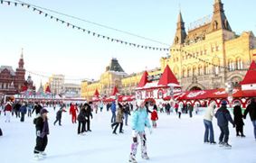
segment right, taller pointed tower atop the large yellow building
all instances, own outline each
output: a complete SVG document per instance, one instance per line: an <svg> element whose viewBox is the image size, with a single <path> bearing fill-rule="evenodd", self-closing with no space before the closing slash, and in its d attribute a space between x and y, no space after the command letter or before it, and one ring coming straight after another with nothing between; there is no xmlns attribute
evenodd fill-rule
<svg viewBox="0 0 256 163"><path fill-rule="evenodd" d="M208 32L214 32L221 29L232 32L231 26L224 14L222 1L214 0L213 19L209 26Z"/></svg>

